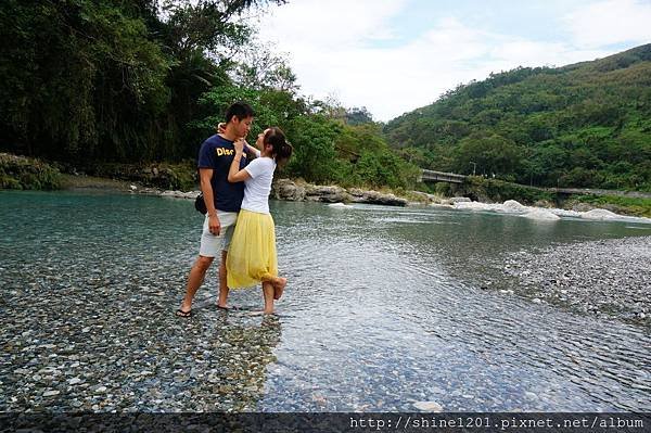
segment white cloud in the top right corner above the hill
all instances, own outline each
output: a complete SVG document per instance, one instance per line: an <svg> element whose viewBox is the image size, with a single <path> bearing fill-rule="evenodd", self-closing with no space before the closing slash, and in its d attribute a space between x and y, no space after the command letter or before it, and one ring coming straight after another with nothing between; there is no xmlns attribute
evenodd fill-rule
<svg viewBox="0 0 651 433"><path fill-rule="evenodd" d="M647 0L600 1L571 12L564 21L582 47L651 41L651 2Z"/></svg>

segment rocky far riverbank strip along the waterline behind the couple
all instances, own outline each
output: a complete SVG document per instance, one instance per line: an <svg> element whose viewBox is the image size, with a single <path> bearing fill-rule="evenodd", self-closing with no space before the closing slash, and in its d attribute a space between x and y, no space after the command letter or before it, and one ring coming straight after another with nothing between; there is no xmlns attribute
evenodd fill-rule
<svg viewBox="0 0 651 433"><path fill-rule="evenodd" d="M189 162L176 165L99 164L80 170L58 163L51 165L39 160L0 153L0 189L107 190L194 199L199 194L195 181L194 167ZM390 206L456 206L460 202L471 200L490 205L510 198L511 201L533 204L536 208L553 207L550 196L531 195L528 189L515 184L485 179L475 179L473 182L467 186L467 190L459 190L455 194L447 184L446 188L441 189L445 192L436 188L437 193L431 194L388 189L382 191L346 189L332 184L311 184L301 179L279 179L273 183L272 198L286 201L368 203ZM561 207L572 212L605 209L618 215L651 217L651 199L643 198L576 196L565 201Z"/></svg>

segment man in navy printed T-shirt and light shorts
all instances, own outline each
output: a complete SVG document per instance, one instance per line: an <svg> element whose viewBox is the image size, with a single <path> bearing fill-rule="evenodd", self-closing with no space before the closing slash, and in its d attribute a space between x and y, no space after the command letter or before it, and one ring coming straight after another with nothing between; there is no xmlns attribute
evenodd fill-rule
<svg viewBox="0 0 651 433"><path fill-rule="evenodd" d="M228 309L229 289L226 283L226 255L244 196L243 182L230 183L228 171L235 154L233 141L246 138L251 130L253 116L253 109L248 104L235 102L226 111L225 128L204 141L199 151L199 177L207 213L201 235L199 257L188 276L186 297L176 313L177 316L190 317L192 315L194 294L218 255L221 262L219 263L217 307ZM242 157L240 168L245 165L246 157Z"/></svg>

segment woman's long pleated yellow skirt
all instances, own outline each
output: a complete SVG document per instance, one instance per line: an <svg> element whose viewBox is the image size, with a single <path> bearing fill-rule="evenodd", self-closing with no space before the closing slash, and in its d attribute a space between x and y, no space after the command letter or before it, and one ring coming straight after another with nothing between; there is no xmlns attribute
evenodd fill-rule
<svg viewBox="0 0 651 433"><path fill-rule="evenodd" d="M250 288L278 277L276 227L271 215L240 211L226 269L231 289Z"/></svg>

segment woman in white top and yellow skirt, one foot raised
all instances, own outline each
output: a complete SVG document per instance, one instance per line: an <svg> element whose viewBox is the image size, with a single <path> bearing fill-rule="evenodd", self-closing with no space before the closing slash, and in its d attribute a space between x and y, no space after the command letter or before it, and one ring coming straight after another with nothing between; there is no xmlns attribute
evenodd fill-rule
<svg viewBox="0 0 651 433"><path fill-rule="evenodd" d="M260 133L256 147L259 157L240 169L244 140L234 142L235 156L228 180L244 182L244 200L238 216L226 268L230 289L247 288L263 283L264 314L273 314L273 300L282 296L286 278L278 277L276 256L276 228L269 213L269 193L277 164L292 156L292 145L280 128L268 128Z"/></svg>

